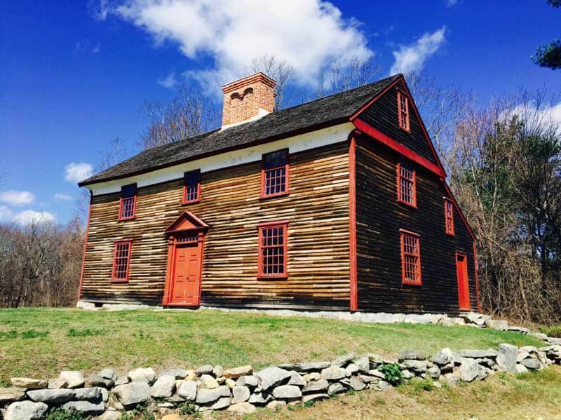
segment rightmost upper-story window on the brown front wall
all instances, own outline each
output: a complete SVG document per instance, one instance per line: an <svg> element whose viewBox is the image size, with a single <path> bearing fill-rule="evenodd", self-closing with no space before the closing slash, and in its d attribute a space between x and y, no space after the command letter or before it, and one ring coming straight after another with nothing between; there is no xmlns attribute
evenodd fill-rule
<svg viewBox="0 0 561 420"><path fill-rule="evenodd" d="M288 194L288 149L263 155L261 196Z"/></svg>

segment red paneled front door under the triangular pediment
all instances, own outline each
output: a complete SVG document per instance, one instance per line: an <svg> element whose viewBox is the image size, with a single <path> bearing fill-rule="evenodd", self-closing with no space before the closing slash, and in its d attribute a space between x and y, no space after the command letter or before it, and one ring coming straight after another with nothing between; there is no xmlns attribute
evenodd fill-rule
<svg viewBox="0 0 561 420"><path fill-rule="evenodd" d="M173 305L198 305L201 286L201 255L198 243L175 245L175 264L170 302Z"/></svg>

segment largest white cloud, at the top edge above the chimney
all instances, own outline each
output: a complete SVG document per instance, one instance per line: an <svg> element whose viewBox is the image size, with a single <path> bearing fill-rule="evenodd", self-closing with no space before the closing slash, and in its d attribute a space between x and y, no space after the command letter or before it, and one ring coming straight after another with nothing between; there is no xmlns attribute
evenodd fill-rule
<svg viewBox="0 0 561 420"><path fill-rule="evenodd" d="M156 46L170 41L191 59L210 55L213 67L190 74L212 88L246 76L264 55L288 62L297 81L309 85L334 60L374 55L360 23L322 0L102 1L97 15L108 13L142 28Z"/></svg>

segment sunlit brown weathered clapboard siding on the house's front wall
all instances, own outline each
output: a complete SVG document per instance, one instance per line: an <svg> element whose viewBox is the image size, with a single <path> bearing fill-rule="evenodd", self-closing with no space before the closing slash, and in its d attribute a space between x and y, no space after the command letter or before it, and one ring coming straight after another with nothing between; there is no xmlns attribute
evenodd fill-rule
<svg viewBox="0 0 561 420"><path fill-rule="evenodd" d="M342 139L344 140L344 139ZM261 162L201 174L201 202L181 205L182 179L138 189L134 220L119 194L94 196L82 299L161 304L165 229L189 210L210 226L201 304L349 307L348 142L290 155L290 195L260 200ZM290 220L288 280L257 280L259 222ZM110 282L113 243L133 238L126 284Z"/></svg>

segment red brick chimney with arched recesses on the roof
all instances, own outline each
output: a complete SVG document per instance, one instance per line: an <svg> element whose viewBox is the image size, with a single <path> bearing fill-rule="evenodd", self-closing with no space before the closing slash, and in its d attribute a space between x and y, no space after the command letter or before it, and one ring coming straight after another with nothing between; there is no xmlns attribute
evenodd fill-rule
<svg viewBox="0 0 561 420"><path fill-rule="evenodd" d="M263 73L233 81L222 86L222 128L245 123L273 112L276 81Z"/></svg>

